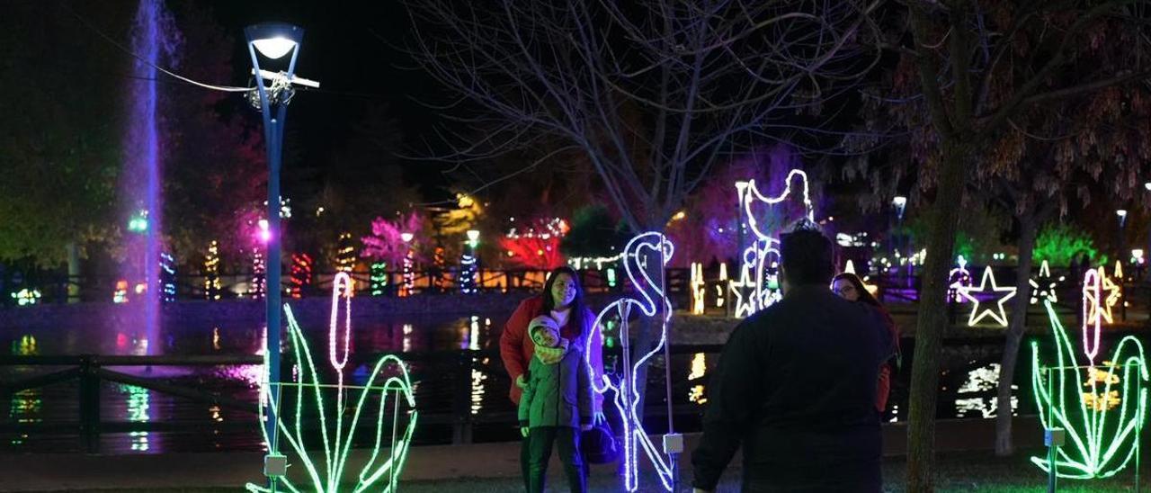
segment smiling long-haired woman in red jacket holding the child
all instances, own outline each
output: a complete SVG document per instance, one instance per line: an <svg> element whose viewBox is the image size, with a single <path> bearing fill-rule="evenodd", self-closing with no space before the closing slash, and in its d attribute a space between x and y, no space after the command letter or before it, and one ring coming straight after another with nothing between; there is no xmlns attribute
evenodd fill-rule
<svg viewBox="0 0 1151 493"><path fill-rule="evenodd" d="M533 318L549 316L559 326L559 335L569 343L561 348L541 348L532 342L527 335L527 325ZM519 405L519 397L526 385L525 372L532 357L539 357L542 363L555 364L563 358L565 351L571 348L582 348L587 344L587 337L592 334L592 324L595 323L595 314L584 302L584 288L579 283L579 273L576 270L564 266L558 267L548 274L547 282L543 283L543 293L524 299L516 312L504 325L503 334L500 335L500 356L503 358L504 367L511 378L512 385L509 395L511 401ZM592 378L600 379L603 374L603 341L599 336L590 341L590 350L587 352L588 363L592 365ZM595 423L603 422L603 396L593 393L593 412ZM579 445L577 443L577 449ZM524 473L525 487L527 487L527 439L524 439L519 455L520 469Z"/></svg>

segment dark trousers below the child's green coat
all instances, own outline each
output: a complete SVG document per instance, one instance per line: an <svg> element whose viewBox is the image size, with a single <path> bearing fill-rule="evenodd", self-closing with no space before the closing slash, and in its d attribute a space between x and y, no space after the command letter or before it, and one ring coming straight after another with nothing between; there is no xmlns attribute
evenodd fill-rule
<svg viewBox="0 0 1151 493"><path fill-rule="evenodd" d="M520 453L520 467L528 493L542 493L548 477L551 449L559 448L559 462L567 475L567 486L573 493L587 492L587 471L579 452L579 430L570 426L540 426L531 428Z"/></svg>

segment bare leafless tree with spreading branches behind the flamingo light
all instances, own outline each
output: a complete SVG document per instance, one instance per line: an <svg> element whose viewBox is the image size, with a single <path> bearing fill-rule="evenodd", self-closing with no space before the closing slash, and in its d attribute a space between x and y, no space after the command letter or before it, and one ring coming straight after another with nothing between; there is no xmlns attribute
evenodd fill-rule
<svg viewBox="0 0 1151 493"><path fill-rule="evenodd" d="M412 0L407 12L417 65L456 96L440 107L456 109L457 128L488 129L444 132L449 151L435 157L576 152L639 233L663 230L716 162L826 137L814 115L878 60L857 43L874 38L876 5ZM653 325L637 332L634 350L655 346Z"/></svg>

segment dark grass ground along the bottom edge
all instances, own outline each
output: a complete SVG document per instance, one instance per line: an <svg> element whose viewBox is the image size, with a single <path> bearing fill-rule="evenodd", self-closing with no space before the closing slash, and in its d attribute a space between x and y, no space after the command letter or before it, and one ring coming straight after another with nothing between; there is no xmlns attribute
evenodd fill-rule
<svg viewBox="0 0 1151 493"><path fill-rule="evenodd" d="M1039 450L1038 453L1042 453ZM1032 454L1023 454L1009 458L998 458L990 453L956 453L944 454L939 457L937 476L938 492L1001 492L1001 493L1034 493L1046 491L1046 476L1028 462ZM1151 488L1151 468L1144 464L1142 468L1142 491ZM904 473L906 462L902 458L891 458L884 464L885 491L901 493L904 488ZM688 475L684 475L688 478ZM729 470L725 480L718 488L719 492L739 491L739 471ZM1059 484L1059 492L1067 493L1104 493L1104 492L1131 492L1134 487L1134 469L1127 469L1114 478L1097 481L1072 481L1062 480ZM653 478L645 478L641 484L642 492L663 491ZM519 478L458 478L435 481L412 481L405 483L399 491L405 493L502 493L521 491L523 483ZM2 486L0 486L2 490ZM593 492L619 491L618 479L610 475L594 475L590 479L589 490ZM92 493L108 493L112 490L87 490ZM222 493L235 492L235 488L171 488L155 493ZM556 481L549 491L565 492L566 485ZM688 490L689 491L689 490ZM123 493L142 493L129 491ZM76 493L75 490L69 493Z"/></svg>

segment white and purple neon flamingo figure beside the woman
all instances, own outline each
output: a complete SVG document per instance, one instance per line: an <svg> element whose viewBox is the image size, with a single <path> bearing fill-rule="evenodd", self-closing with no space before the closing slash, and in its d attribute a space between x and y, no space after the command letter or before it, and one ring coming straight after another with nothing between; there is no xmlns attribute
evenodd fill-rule
<svg viewBox="0 0 1151 493"><path fill-rule="evenodd" d="M637 461L640 448L651 460L651 464L655 467L664 488L668 491L672 488L671 461L651 443L647 432L643 430L641 410L637 409L640 400L637 386L643 382L635 381L635 373L651 356L655 356L663 349L668 340L668 320L671 318L671 302L668 301L664 294L663 282L653 281L648 274L645 253L658 256L661 259L660 272L663 272L673 252L674 246L661 233L643 233L627 242L627 245L624 248L622 261L627 272L627 279L635 287L639 298L625 297L617 299L601 310L600 314L595 318L595 324L592 326L592 334L588 334L586 342L585 355L588 355L592 351L593 337L602 336L601 327L605 321L604 319L612 313L619 317L619 341L623 348L624 374L622 377L596 376L595 369L592 367L592 363L587 359L587 356L585 356L585 361L589 373L593 376L592 388L600 394L603 394L609 388L616 393L616 409L619 410L619 416L624 423L624 486L630 492L634 492L639 487ZM658 306L657 302L663 306ZM634 361L632 361L627 329L627 318L631 314L632 308L638 308L645 317L649 318L656 317L660 309L663 310L663 319L660 320L660 342ZM600 333L597 334L597 332Z"/></svg>

